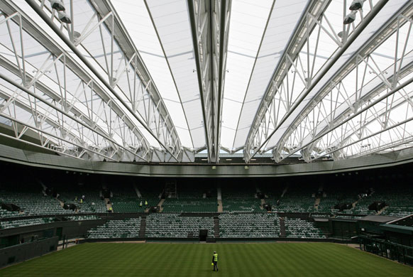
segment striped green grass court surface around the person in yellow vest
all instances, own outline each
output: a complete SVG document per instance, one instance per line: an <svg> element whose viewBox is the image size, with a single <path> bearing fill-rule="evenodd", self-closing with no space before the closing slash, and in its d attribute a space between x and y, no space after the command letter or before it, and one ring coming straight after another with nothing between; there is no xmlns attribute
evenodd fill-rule
<svg viewBox="0 0 413 277"><path fill-rule="evenodd" d="M211 256L219 254L219 272ZM82 244L0 276L413 276L413 268L328 243Z"/></svg>

